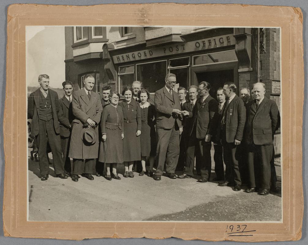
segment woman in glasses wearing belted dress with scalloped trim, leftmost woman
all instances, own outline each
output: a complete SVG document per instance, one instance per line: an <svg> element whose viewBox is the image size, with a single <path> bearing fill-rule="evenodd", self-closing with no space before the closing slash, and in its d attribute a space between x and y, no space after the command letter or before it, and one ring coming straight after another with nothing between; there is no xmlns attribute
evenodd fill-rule
<svg viewBox="0 0 308 245"><path fill-rule="evenodd" d="M117 163L123 163L124 116L122 108L118 106L120 94L113 91L109 98L110 104L104 107L100 121L102 142L99 148L99 161L106 164L107 180L111 180L111 177L120 180L116 168Z"/></svg>

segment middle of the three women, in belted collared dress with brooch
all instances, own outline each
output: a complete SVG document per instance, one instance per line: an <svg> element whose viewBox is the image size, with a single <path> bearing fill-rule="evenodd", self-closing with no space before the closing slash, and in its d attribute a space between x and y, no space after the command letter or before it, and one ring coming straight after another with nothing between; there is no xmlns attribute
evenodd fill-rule
<svg viewBox="0 0 308 245"><path fill-rule="evenodd" d="M124 88L122 95L125 100L119 103L122 107L124 116L124 132L123 140L123 157L125 173L123 177L133 178L132 168L134 161L141 160L140 154L140 134L141 134L141 117L140 105L135 100L132 100L134 91L131 87Z"/></svg>

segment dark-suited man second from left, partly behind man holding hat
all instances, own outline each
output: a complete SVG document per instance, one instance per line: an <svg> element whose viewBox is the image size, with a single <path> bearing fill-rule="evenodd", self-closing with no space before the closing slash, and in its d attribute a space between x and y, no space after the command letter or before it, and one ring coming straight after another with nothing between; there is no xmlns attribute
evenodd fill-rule
<svg viewBox="0 0 308 245"><path fill-rule="evenodd" d="M63 112L63 116L68 119L71 127L73 126L74 115L72 111L72 92L73 84L70 81L64 81L62 83L64 96L59 99L60 109ZM67 128L65 125L60 123L60 136L63 153L64 170L70 175L71 174L71 159L68 157L68 151L70 149L71 140L71 127Z"/></svg>

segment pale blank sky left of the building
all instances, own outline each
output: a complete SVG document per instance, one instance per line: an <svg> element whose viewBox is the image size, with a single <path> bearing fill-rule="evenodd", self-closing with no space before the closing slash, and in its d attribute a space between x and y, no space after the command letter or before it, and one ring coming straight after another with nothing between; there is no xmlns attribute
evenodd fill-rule
<svg viewBox="0 0 308 245"><path fill-rule="evenodd" d="M38 76L47 74L51 88L65 81L64 27L26 26L26 84L39 86Z"/></svg>

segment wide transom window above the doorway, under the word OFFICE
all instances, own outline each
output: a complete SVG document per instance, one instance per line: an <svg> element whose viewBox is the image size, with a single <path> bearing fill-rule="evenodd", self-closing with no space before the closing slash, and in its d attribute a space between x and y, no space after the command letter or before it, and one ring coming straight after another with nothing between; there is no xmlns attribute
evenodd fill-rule
<svg viewBox="0 0 308 245"><path fill-rule="evenodd" d="M193 56L193 66L237 61L234 50Z"/></svg>

